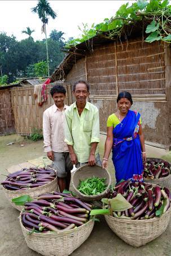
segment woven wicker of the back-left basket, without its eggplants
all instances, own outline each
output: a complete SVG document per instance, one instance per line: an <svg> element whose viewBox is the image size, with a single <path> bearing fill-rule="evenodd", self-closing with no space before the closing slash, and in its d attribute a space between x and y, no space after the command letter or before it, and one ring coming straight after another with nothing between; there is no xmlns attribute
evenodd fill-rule
<svg viewBox="0 0 171 256"><path fill-rule="evenodd" d="M53 192L56 191L57 189L57 177L54 180L50 181L50 183L47 183L42 186L37 186L36 188L28 188L25 190L8 190L3 187L3 191L5 192L7 199L10 201L11 205L19 211L23 209L23 206L17 206L15 205L15 203L12 203L12 198L28 195L33 199L36 199L40 194L44 194L46 192Z"/></svg>

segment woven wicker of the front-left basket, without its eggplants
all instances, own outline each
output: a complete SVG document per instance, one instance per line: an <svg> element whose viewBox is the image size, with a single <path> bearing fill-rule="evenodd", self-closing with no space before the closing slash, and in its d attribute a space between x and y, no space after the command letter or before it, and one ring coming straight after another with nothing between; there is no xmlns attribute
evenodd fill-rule
<svg viewBox="0 0 171 256"><path fill-rule="evenodd" d="M32 233L21 222L20 225L28 247L37 253L47 256L67 256L76 250L89 236L94 227L94 220L76 229L64 233Z"/></svg>

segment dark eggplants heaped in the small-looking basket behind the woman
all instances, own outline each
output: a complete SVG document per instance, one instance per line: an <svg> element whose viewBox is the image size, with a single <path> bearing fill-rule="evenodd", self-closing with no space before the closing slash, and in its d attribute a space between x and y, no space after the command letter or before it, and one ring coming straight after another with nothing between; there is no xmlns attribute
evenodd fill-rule
<svg viewBox="0 0 171 256"><path fill-rule="evenodd" d="M147 161L144 163L143 177L148 179L160 179L170 174L170 164L164 160Z"/></svg>

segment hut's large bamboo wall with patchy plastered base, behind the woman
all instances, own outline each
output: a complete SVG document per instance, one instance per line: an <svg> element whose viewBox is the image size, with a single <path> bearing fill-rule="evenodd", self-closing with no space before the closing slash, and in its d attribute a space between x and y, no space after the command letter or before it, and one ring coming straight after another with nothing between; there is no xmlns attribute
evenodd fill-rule
<svg viewBox="0 0 171 256"><path fill-rule="evenodd" d="M160 42L148 44L142 42L142 38L111 42L94 47L92 53L79 60L67 81L73 83L80 73L85 74L90 83L90 100L99 109L101 132L107 131L107 118L117 110L117 95L124 90L130 92L132 109L142 115L146 141L169 147L171 111L167 110L170 109L171 82L165 71L171 73L171 66L165 63L167 56Z"/></svg>

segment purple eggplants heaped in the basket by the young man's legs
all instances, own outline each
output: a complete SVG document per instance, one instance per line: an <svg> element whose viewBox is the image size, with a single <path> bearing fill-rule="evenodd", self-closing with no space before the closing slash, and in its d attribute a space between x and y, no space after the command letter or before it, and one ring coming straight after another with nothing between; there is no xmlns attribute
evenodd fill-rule
<svg viewBox="0 0 171 256"><path fill-rule="evenodd" d="M1 185L8 190L25 190L50 183L55 177L56 172L51 168L30 167L9 174Z"/></svg>

